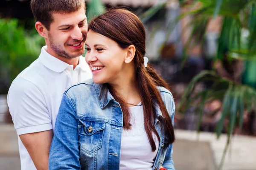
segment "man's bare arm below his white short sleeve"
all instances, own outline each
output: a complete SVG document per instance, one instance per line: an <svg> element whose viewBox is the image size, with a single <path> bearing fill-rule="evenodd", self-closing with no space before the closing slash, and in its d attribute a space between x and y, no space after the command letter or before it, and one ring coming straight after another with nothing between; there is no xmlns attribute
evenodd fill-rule
<svg viewBox="0 0 256 170"><path fill-rule="evenodd" d="M37 170L48 170L52 130L20 135L20 140L29 152Z"/></svg>

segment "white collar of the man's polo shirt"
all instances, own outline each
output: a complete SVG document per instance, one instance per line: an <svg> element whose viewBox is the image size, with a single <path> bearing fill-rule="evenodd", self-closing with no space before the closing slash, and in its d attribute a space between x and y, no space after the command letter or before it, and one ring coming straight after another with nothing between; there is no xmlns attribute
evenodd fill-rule
<svg viewBox="0 0 256 170"><path fill-rule="evenodd" d="M69 67L69 64L67 64L64 61L61 61L60 59L53 57L51 54L49 54L46 51L47 46L45 45L41 49L41 54L39 56L39 61L47 68L49 68L52 71L55 71L57 73L61 73L64 71L66 68ZM79 57L79 63L78 63L78 68L80 68L83 71L86 71L87 63L85 62L84 57L80 56Z"/></svg>

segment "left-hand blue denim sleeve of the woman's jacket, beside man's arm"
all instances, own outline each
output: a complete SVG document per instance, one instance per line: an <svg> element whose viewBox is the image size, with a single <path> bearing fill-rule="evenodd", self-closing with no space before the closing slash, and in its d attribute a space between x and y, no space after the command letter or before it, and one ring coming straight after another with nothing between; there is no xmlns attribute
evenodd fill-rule
<svg viewBox="0 0 256 170"><path fill-rule="evenodd" d="M49 153L49 170L80 170L76 107L63 94Z"/></svg>

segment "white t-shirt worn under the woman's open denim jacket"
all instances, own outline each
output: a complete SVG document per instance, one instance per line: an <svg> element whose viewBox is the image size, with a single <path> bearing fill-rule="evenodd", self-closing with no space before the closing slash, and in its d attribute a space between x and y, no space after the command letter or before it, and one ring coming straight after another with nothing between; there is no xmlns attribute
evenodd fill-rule
<svg viewBox="0 0 256 170"><path fill-rule="evenodd" d="M157 149L152 152L144 127L143 106L130 107L130 112L131 130L122 131L120 170L152 170L159 148L157 136L153 133Z"/></svg>

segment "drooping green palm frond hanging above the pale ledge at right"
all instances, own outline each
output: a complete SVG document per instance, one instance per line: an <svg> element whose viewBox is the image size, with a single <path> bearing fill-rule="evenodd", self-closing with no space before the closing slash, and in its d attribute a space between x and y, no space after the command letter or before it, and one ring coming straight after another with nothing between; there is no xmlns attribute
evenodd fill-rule
<svg viewBox="0 0 256 170"><path fill-rule="evenodd" d="M195 85L203 81L212 82L212 85L207 90L193 96L192 93ZM222 98L221 119L217 124L216 133L219 138L224 127L224 120L228 119L227 144L229 144L235 126L238 125L240 129L242 128L244 110L251 111L252 109L256 109L256 90L254 88L220 77L214 71L202 71L189 83L177 110L181 110L183 105L193 105L193 107L198 108L198 110L200 110L199 127L204 105L215 99ZM226 152L227 150L224 152L224 155Z"/></svg>

